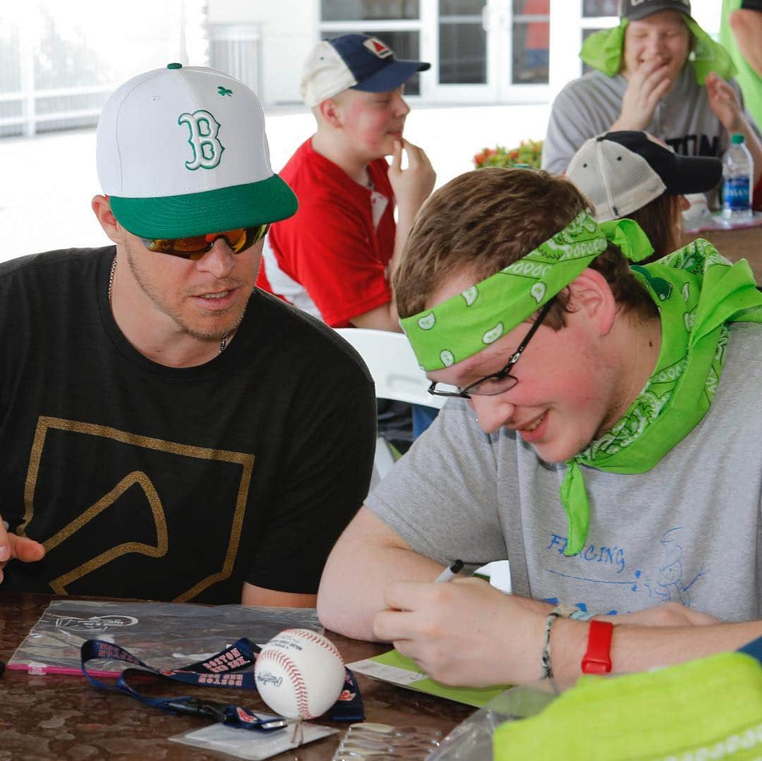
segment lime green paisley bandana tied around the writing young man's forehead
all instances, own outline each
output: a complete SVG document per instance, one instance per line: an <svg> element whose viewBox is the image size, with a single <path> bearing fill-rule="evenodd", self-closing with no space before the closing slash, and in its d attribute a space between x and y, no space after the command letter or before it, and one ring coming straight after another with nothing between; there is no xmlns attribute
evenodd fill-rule
<svg viewBox="0 0 762 761"><path fill-rule="evenodd" d="M401 320L418 363L427 372L440 370L494 344L575 280L609 240L634 261L653 252L632 219L599 225L580 212L561 232L504 270L434 309Z"/></svg>

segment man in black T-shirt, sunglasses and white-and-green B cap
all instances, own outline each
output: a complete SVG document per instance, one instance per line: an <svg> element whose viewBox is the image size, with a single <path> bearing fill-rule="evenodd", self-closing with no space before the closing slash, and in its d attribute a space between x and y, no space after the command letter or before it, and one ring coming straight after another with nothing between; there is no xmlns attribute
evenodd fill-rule
<svg viewBox="0 0 762 761"><path fill-rule="evenodd" d="M114 92L97 154L114 245L0 265L0 590L312 606L375 400L346 344L255 288L297 206L257 96L171 63Z"/></svg>

